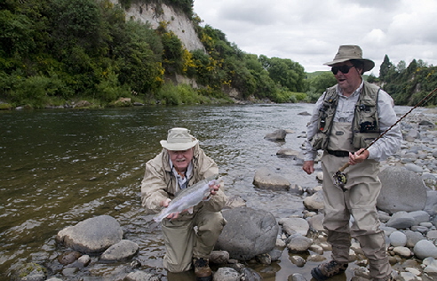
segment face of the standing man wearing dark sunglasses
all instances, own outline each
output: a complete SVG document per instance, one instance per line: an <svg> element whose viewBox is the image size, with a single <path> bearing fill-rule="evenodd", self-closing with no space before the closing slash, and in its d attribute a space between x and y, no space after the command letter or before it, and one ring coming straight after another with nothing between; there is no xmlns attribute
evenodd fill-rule
<svg viewBox="0 0 437 281"><path fill-rule="evenodd" d="M342 68L346 73L342 72ZM346 68L349 69L346 71ZM332 68L332 72L334 73L335 70L338 71L337 74L334 74L338 85L347 94L354 92L362 83L362 76L360 75L361 69L355 68L349 60L336 63Z"/></svg>

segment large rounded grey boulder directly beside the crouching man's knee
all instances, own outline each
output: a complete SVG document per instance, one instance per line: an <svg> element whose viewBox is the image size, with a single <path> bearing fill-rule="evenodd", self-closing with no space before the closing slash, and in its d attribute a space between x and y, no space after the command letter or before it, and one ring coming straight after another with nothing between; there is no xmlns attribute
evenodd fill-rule
<svg viewBox="0 0 437 281"><path fill-rule="evenodd" d="M250 260L270 252L276 245L279 225L272 213L247 207L223 210L227 223L218 237L216 250L237 260Z"/></svg>

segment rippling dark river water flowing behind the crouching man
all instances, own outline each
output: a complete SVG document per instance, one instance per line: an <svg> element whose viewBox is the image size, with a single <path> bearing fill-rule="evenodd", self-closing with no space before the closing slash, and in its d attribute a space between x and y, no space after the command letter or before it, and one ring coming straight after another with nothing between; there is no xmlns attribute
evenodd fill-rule
<svg viewBox="0 0 437 281"><path fill-rule="evenodd" d="M290 183L314 187L301 165L276 156L299 150L312 104L41 109L0 112L0 277L18 264L50 265L65 249L54 237L68 226L100 214L120 222L125 237L139 247L141 269L161 269L164 253L159 228L140 205L144 164L160 152L171 127L187 127L220 169L228 196L276 218L301 214L302 197L256 189L255 172L268 167ZM286 141L266 141L266 133L290 129ZM287 252L287 251L284 251ZM126 265L99 264L89 276L116 279ZM310 279L285 257L268 280L293 272ZM264 269L257 269L260 272ZM273 270L273 274L272 274ZM158 270L159 271L159 270ZM264 274L266 277L266 274Z"/></svg>

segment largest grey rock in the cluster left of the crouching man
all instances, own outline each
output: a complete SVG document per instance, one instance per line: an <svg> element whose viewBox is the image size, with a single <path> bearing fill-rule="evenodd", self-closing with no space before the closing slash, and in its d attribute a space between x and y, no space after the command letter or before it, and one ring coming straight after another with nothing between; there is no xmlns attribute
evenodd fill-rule
<svg viewBox="0 0 437 281"><path fill-rule="evenodd" d="M100 215L60 230L56 240L81 253L102 253L123 238L118 221Z"/></svg>

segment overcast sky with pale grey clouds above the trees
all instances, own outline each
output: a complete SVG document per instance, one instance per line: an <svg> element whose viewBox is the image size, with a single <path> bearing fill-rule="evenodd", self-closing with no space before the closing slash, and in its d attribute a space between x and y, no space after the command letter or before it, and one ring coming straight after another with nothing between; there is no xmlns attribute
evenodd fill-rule
<svg viewBox="0 0 437 281"><path fill-rule="evenodd" d="M358 44L375 61L424 60L437 66L436 0L195 0L203 25L243 51L329 70L340 44Z"/></svg>

